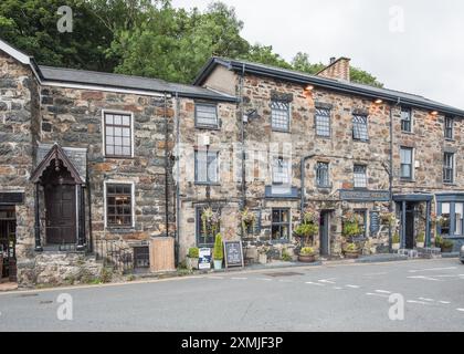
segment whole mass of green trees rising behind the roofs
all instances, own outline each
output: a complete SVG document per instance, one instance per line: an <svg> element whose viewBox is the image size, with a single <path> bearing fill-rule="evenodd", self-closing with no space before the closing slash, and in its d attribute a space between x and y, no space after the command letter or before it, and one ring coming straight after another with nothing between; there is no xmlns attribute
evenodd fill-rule
<svg viewBox="0 0 464 354"><path fill-rule="evenodd" d="M73 10L72 33L60 33L60 6ZM298 52L291 63L272 45L251 44L234 8L212 2L203 12L170 0L2 0L1 38L40 64L190 83L212 55L242 59L315 74L324 67ZM381 86L351 69L351 81Z"/></svg>

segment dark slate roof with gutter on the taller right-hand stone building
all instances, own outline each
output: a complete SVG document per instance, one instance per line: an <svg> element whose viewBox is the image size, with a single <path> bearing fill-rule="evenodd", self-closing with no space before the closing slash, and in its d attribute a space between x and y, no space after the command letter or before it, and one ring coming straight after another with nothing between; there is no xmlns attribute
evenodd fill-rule
<svg viewBox="0 0 464 354"><path fill-rule="evenodd" d="M425 98L421 95L415 95L411 93L405 93L401 91L394 91L389 88L380 88L365 84L358 84L354 82L339 81L334 79L326 79L316 75L309 75L298 71L281 69L259 63L252 63L242 60L231 60L225 58L213 56L209 62L202 67L197 79L194 80L194 85L202 85L208 77L208 75L215 69L217 65L222 65L229 70L236 72L242 72L243 70L250 74L256 74L262 76L268 76L282 81L289 81L299 84L313 84L315 86L334 90L338 92L357 94L366 96L369 98L381 98L387 102L398 103L404 105L410 105L412 107L425 108L430 111L439 111L444 114L450 114L458 117L464 117L464 111L436 102L429 98Z"/></svg>

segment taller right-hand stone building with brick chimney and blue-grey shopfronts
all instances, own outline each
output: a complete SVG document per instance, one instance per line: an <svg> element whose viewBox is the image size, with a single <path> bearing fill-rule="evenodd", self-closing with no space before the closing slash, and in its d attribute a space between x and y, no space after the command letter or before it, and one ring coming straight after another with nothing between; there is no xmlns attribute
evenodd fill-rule
<svg viewBox="0 0 464 354"><path fill-rule="evenodd" d="M255 239L292 249L295 226L309 209L319 216L313 242L324 257L342 253L344 222L352 215L361 223L363 253L389 252L396 233L401 248L415 248L420 236L432 246L442 233L457 250L464 112L352 83L349 67L349 59L331 59L307 75L213 58L196 79L241 103L249 155L243 205L260 215ZM254 159L263 148L270 171L256 178Z"/></svg>

